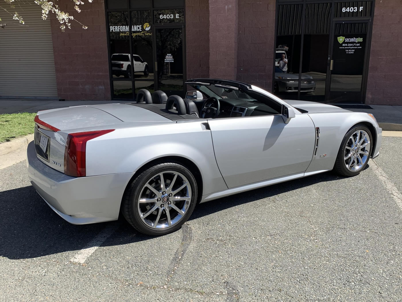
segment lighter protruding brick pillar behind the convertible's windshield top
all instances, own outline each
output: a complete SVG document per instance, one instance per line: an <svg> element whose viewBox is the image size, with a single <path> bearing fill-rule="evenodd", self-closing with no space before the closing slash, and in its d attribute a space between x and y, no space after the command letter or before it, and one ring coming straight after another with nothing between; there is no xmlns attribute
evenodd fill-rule
<svg viewBox="0 0 402 302"><path fill-rule="evenodd" d="M209 0L209 76L236 80L238 0Z"/></svg>

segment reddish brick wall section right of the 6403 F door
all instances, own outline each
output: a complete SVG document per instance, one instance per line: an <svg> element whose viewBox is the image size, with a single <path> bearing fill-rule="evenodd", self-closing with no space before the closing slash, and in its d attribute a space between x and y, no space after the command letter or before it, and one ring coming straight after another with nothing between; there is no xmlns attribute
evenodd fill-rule
<svg viewBox="0 0 402 302"><path fill-rule="evenodd" d="M366 104L401 105L402 0L375 1Z"/></svg>

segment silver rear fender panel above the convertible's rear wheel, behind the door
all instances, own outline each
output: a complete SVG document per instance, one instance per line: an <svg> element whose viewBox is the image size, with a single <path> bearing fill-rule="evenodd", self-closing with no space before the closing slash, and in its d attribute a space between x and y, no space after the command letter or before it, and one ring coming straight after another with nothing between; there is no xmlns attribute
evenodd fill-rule
<svg viewBox="0 0 402 302"><path fill-rule="evenodd" d="M116 129L112 133L88 141L87 176L132 173L154 159L180 156L197 165L203 194L227 188L215 160L211 131L200 121Z"/></svg>

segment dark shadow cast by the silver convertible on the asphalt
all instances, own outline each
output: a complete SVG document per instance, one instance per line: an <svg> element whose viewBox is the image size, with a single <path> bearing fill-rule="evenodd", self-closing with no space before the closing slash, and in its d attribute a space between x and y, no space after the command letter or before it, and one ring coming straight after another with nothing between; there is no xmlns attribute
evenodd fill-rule
<svg viewBox="0 0 402 302"><path fill-rule="evenodd" d="M189 220L271 197L318 182L339 180L328 172L268 186L197 205ZM27 259L80 250L110 223L118 230L102 246L117 246L152 239L136 232L120 218L118 222L72 225L50 209L32 186L0 192L0 256Z"/></svg>

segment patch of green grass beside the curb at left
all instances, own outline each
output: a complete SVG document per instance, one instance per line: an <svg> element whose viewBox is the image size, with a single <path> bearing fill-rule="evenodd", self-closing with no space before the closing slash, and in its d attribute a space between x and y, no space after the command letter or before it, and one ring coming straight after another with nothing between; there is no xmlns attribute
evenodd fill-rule
<svg viewBox="0 0 402 302"><path fill-rule="evenodd" d="M0 143L32 134L36 113L0 114Z"/></svg>

